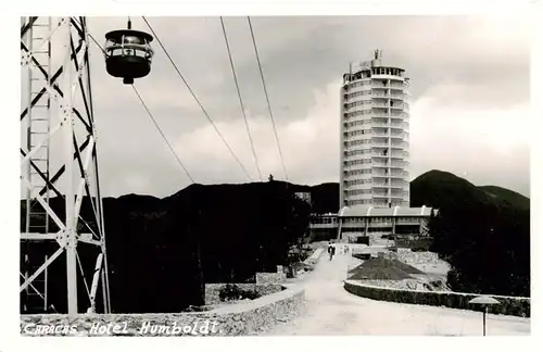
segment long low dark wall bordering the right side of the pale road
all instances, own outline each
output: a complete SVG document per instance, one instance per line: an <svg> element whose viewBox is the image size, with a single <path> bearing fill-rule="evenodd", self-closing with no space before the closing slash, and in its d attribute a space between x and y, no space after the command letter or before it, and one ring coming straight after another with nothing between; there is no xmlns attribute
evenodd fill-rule
<svg viewBox="0 0 543 352"><path fill-rule="evenodd" d="M343 287L350 293L378 301L446 306L452 309L470 310L470 311L476 311L480 309L475 304L468 304L468 302L471 299L480 296L473 293L383 288L383 287L365 285L354 280L345 280ZM491 297L498 300L501 304L490 305L488 311L489 313L516 315L522 317L530 316L529 298L506 297L506 296L491 296Z"/></svg>

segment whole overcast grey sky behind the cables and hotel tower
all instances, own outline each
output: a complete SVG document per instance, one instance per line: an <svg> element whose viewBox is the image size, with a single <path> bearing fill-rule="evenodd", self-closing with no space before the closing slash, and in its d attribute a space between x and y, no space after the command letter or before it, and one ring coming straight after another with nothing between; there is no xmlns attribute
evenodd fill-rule
<svg viewBox="0 0 543 352"><path fill-rule="evenodd" d="M149 17L185 78L253 179L257 179L218 17ZM89 17L101 43L126 26ZM519 16L253 17L289 180L339 180L339 99L350 62L381 49L412 81L412 179L447 171L476 185L529 196L530 36ZM285 175L247 17L225 25L264 178ZM149 28L132 17L132 28ZM136 87L195 183L244 183L243 171L153 42L150 76ZM190 184L129 86L91 47L104 196L165 197Z"/></svg>

